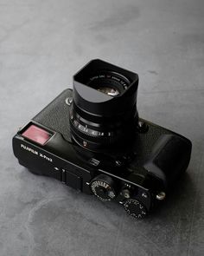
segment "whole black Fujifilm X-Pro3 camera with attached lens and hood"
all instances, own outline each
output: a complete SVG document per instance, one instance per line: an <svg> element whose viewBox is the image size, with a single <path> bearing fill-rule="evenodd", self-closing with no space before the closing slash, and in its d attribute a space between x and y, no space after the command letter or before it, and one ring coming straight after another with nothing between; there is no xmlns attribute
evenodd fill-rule
<svg viewBox="0 0 204 256"><path fill-rule="evenodd" d="M99 59L13 138L19 163L143 218L188 167L191 142L137 114L138 75Z"/></svg>

